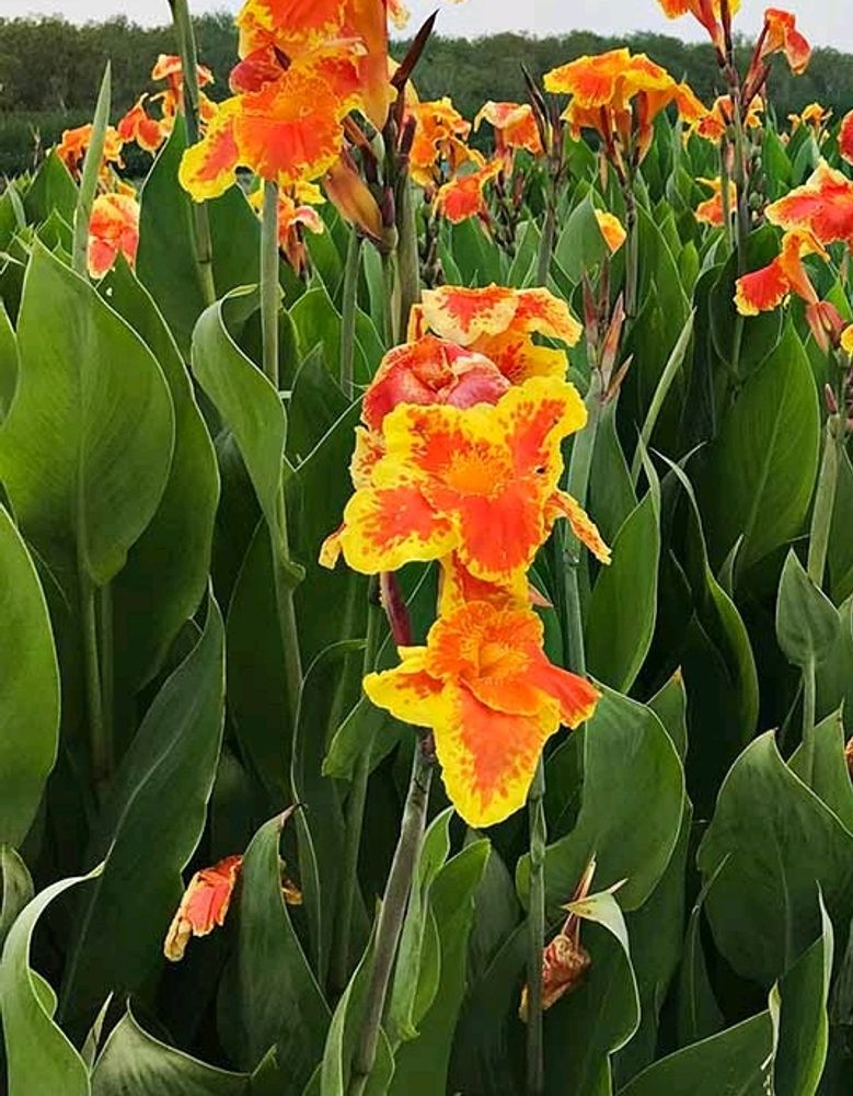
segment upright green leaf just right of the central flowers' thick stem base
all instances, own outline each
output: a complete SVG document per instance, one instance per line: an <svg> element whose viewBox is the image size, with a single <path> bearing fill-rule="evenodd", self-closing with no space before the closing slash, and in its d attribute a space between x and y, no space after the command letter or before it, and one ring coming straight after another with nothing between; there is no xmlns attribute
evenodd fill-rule
<svg viewBox="0 0 853 1096"><path fill-rule="evenodd" d="M447 1075L457 1017L466 989L468 939L474 920L474 893L483 878L489 843L475 841L438 871L429 892L440 947L440 977L418 1038L396 1051L390 1093L447 1092Z"/></svg>

